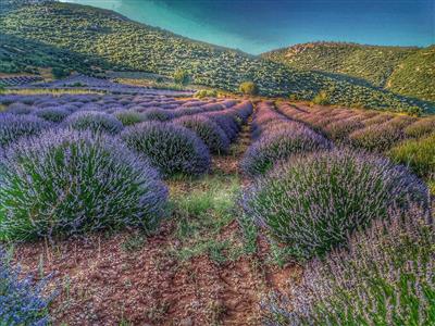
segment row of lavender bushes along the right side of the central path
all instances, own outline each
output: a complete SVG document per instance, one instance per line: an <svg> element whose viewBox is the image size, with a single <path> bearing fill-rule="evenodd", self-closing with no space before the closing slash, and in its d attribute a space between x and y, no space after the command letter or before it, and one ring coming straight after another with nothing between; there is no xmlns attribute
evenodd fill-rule
<svg viewBox="0 0 435 326"><path fill-rule="evenodd" d="M264 302L265 324L434 323L435 233L426 186L405 166L335 147L279 111L272 102L257 108L257 140L241 163L253 177L241 200L244 225L251 221L277 244L272 248L307 266L290 299ZM318 113L312 124L322 118Z"/></svg>

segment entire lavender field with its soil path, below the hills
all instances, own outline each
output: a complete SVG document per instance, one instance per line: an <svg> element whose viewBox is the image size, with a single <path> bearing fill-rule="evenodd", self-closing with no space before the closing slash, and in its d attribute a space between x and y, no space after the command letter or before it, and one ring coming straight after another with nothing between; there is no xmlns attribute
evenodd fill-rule
<svg viewBox="0 0 435 326"><path fill-rule="evenodd" d="M0 96L3 324L435 322L432 117L80 83Z"/></svg>

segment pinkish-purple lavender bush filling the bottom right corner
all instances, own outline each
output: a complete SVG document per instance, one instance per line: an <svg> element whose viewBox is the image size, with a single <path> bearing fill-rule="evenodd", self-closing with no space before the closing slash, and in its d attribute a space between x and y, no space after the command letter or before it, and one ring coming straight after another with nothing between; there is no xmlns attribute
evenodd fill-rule
<svg viewBox="0 0 435 326"><path fill-rule="evenodd" d="M266 325L434 325L434 225L420 209L394 211L314 261Z"/></svg>

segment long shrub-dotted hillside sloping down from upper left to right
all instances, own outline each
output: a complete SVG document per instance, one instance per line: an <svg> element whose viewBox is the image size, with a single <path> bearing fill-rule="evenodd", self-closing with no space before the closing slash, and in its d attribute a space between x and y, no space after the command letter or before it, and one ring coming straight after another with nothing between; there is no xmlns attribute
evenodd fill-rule
<svg viewBox="0 0 435 326"><path fill-rule="evenodd" d="M25 0L24 0L25 1ZM258 84L261 95L312 100L326 91L333 104L425 110L425 104L351 78L301 71L244 52L195 41L173 33L139 24L113 11L92 7L48 2L28 4L0 15L1 70L27 64L47 66L50 62L72 70L138 71L170 76L177 68L190 72L195 84L235 91L245 80ZM36 55L26 42L38 43L44 55ZM8 55L18 48L20 58ZM22 45L20 46L20 42ZM5 50L4 50L5 49ZM38 50L40 50L38 48ZM38 62L38 58L45 60Z"/></svg>

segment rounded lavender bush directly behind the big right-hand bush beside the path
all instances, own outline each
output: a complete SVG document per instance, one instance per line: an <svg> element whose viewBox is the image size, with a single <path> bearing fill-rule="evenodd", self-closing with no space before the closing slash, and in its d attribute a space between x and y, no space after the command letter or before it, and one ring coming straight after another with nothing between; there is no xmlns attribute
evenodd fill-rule
<svg viewBox="0 0 435 326"><path fill-rule="evenodd" d="M276 125L276 123L274 123ZM283 124L282 130L268 133L251 145L241 163L243 172L251 177L264 175L276 163L295 154L328 149L330 142L303 126Z"/></svg>

